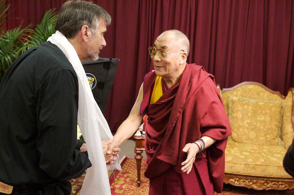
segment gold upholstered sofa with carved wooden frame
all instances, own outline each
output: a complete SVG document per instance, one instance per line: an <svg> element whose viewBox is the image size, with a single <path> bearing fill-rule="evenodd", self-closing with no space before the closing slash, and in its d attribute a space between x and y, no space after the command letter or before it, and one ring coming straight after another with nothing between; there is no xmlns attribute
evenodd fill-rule
<svg viewBox="0 0 294 195"><path fill-rule="evenodd" d="M283 157L294 137L294 88L284 97L260 83L244 82L220 92L232 129L224 182L256 190L293 189Z"/></svg>

